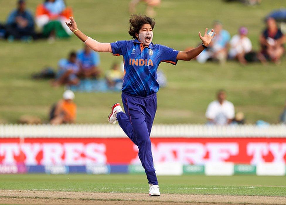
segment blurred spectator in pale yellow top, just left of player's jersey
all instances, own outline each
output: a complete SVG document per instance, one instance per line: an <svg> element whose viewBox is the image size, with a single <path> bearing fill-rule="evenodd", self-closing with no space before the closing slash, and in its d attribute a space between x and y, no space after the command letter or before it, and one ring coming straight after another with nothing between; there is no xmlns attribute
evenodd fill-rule
<svg viewBox="0 0 286 205"><path fill-rule="evenodd" d="M114 88L117 83L123 82L123 73L117 63L114 63L111 69L106 73L106 81L110 88ZM121 85L122 87L122 85Z"/></svg>

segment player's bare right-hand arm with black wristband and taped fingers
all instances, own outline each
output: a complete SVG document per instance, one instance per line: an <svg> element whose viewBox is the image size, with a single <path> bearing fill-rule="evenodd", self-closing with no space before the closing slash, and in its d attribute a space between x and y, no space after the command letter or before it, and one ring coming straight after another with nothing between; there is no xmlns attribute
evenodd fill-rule
<svg viewBox="0 0 286 205"><path fill-rule="evenodd" d="M202 36L201 33L199 32L199 37L202 40L202 44L207 47L210 42L212 41L212 38L216 35L212 36L212 33L214 30L212 29L208 34L207 34L207 28L205 29L205 35ZM177 60L184 60L184 61L190 61L191 59L195 58L198 54L200 54L205 47L203 45L199 45L198 47L188 50L188 51L180 51L177 55Z"/></svg>

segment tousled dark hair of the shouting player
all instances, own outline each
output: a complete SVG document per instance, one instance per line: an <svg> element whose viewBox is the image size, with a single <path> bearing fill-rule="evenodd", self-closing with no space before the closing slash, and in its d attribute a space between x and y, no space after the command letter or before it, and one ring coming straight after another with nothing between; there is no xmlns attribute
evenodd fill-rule
<svg viewBox="0 0 286 205"><path fill-rule="evenodd" d="M150 24L152 29L155 26L154 18L150 18L145 15L136 15L136 14L133 14L130 16L128 33L132 36L132 39L137 39L135 34L139 33L139 30L142 28L142 25L145 23Z"/></svg>

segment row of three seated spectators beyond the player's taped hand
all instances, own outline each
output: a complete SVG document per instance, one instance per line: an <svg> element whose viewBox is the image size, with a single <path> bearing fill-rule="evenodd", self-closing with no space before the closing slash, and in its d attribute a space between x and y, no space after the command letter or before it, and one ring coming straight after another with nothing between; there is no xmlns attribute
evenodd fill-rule
<svg viewBox="0 0 286 205"><path fill-rule="evenodd" d="M197 56L199 63L217 61L224 64L227 60L236 60L243 65L249 62L267 61L278 64L285 54L285 35L272 17L266 19L266 28L259 35L258 51L253 50L246 27L241 26L238 33L232 37L220 21L214 21L213 28L216 36L207 49Z"/></svg>

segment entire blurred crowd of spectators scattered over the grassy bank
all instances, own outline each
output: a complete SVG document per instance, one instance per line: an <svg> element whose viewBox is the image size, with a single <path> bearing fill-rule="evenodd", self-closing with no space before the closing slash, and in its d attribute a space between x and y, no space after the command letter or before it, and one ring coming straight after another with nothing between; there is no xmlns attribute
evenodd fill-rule
<svg viewBox="0 0 286 205"><path fill-rule="evenodd" d="M230 1L230 0L228 0ZM237 0L238 1L238 0ZM239 0L246 5L257 5L261 0ZM48 39L53 42L56 38L67 38L72 32L65 25L68 17L72 16L72 8L67 6L64 0L44 0L38 4L33 15L28 9L25 0L16 1L16 8L10 12L5 23L0 23L0 38L12 42L22 40L30 42L37 39ZM129 12L136 13L139 3L146 4L145 13L154 17L154 8L161 4L161 0L131 0ZM250 62L273 62L280 63L281 57L285 54L286 37L278 27L273 16L265 19L265 29L259 35L259 50L255 51L252 42L248 37L248 28L241 26L237 34L231 37L220 21L213 22L213 29L216 36L211 44L205 49L196 60L199 63L215 61L224 64L227 60L234 60L242 65ZM37 29L36 29L37 28ZM34 78L53 78L53 86L65 86L62 99L52 105L49 122L51 124L74 123L76 121L75 94L72 88L81 87L84 83L103 82L110 90L122 87L124 68L123 62L114 62L111 68L103 73L100 68L100 56L89 47L75 52L71 51L67 58L60 59L57 70L46 68ZM165 87L167 79L164 72L157 71L158 82ZM98 83L96 84L96 86ZM83 91L83 90L81 90ZM92 91L92 90L85 90ZM232 102L227 100L227 92L218 90L216 99L207 106L205 117L207 124L244 124L244 113L235 113ZM30 121L29 117L23 117L23 122ZM35 119L33 119L35 120ZM37 119L35 122L39 122ZM280 122L286 124L286 104L280 115ZM259 121L258 123L266 123Z"/></svg>

